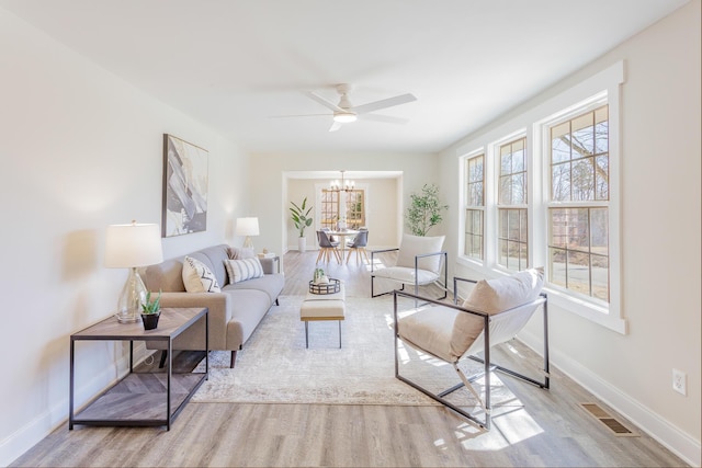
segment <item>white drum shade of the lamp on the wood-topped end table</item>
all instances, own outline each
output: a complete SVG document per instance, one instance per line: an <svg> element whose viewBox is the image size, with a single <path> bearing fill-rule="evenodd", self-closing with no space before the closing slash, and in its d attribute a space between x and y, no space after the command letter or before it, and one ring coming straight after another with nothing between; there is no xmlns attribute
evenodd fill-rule
<svg viewBox="0 0 702 468"><path fill-rule="evenodd" d="M105 238L105 266L131 269L163 261L159 225L111 225Z"/></svg>

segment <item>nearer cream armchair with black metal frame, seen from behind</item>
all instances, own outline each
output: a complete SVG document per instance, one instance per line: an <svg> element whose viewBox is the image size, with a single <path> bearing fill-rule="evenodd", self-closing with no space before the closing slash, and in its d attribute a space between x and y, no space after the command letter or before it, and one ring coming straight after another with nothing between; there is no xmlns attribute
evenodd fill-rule
<svg viewBox="0 0 702 468"><path fill-rule="evenodd" d="M474 283L468 298L458 306L458 282ZM444 404L457 414L477 423L486 430L490 429L490 373L495 369L525 380L543 389L550 388L548 370L548 313L547 297L541 293L543 287L543 270L528 270L510 276L483 279L455 277L453 281L454 304L440 303L426 297L395 290L395 377L415 387L432 399ZM398 298L407 297L426 301L428 307L409 310L409 315L398 317ZM490 358L490 347L513 339L526 324L536 310L543 311L543 381L519 374L507 367L496 365ZM420 353L453 366L460 377L457 385L441 392L433 392L417 381L403 376L398 358L398 345L406 343ZM476 356L482 353L483 356ZM483 364L482 372L466 376L458 363L471 358ZM435 369L429 363L420 363L428 372ZM472 381L485 377L485 399L473 388ZM416 377L415 377L416 379ZM479 402L484 412L480 419L476 414L448 401L444 397L465 387Z"/></svg>

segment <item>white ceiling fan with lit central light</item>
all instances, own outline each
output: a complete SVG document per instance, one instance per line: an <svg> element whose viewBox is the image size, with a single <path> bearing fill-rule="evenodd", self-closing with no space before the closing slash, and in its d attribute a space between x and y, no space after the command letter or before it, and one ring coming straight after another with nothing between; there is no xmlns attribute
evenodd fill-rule
<svg viewBox="0 0 702 468"><path fill-rule="evenodd" d="M381 109L392 107L399 104L406 104L408 102L417 101L412 94L400 94L394 98L387 98L380 101L369 102L366 104L361 105L352 105L349 100L349 93L351 92L351 84L337 84L337 92L339 93L339 103L335 104L331 101L320 96L319 94L313 91L304 91L304 94L310 98L313 101L318 102L325 107L329 109L331 114L312 114L312 115L298 115L298 117L303 116L315 116L315 115L330 115L333 118L331 127L329 127L329 132L336 132L343 124L350 124L355 122L359 116L362 116L363 119L376 121L376 122L385 122L389 124L405 124L407 123L406 118L390 117L386 115L370 115L371 112L380 111ZM291 115L293 117L293 115Z"/></svg>

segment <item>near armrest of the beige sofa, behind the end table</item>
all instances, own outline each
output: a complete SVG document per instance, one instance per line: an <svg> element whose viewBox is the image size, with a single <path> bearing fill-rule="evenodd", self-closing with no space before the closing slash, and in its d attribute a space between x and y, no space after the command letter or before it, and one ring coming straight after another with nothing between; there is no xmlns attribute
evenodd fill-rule
<svg viewBox="0 0 702 468"><path fill-rule="evenodd" d="M161 307L206 307L210 309L210 341L226 343L231 320L231 296L225 293L162 293Z"/></svg>

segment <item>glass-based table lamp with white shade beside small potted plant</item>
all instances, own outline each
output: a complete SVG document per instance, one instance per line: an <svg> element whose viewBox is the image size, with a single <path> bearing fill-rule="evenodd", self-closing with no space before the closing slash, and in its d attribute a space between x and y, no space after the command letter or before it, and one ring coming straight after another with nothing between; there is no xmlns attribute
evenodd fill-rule
<svg viewBox="0 0 702 468"><path fill-rule="evenodd" d="M107 226L105 237L105 266L129 269L117 300L117 320L121 323L137 321L141 304L146 301L146 286L137 267L163 261L161 230L158 225L137 224Z"/></svg>

